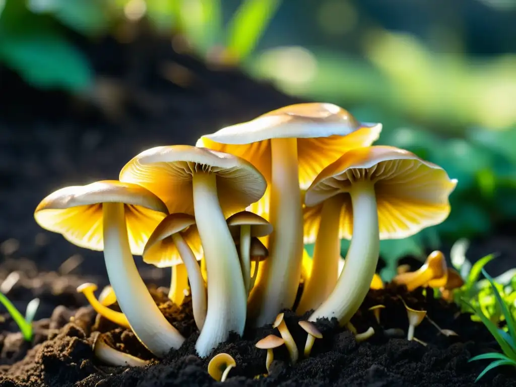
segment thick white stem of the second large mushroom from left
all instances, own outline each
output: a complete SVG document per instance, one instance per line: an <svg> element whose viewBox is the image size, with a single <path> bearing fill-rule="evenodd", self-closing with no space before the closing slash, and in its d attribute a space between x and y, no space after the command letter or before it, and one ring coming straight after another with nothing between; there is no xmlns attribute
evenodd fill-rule
<svg viewBox="0 0 516 387"><path fill-rule="evenodd" d="M215 174L193 173L193 207L208 276L208 309L196 343L197 352L204 357L231 331L243 334L247 294L235 243L217 197Z"/></svg>

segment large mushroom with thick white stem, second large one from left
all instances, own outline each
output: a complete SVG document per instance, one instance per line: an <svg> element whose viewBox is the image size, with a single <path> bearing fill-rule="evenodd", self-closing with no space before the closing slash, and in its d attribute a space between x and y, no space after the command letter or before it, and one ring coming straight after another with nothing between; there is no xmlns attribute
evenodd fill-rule
<svg viewBox="0 0 516 387"><path fill-rule="evenodd" d="M231 331L243 334L247 294L226 218L264 195L264 176L243 158L175 145L138 154L122 168L120 180L154 192L171 214L195 216L208 278L206 319L196 343L199 355L207 356Z"/></svg>

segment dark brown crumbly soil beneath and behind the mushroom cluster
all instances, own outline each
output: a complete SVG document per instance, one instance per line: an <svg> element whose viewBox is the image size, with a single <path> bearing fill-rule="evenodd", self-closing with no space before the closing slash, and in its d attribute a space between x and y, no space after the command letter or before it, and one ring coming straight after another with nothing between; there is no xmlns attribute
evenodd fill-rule
<svg viewBox="0 0 516 387"><path fill-rule="evenodd" d="M169 39L145 31L138 31L125 44L111 38L95 42L76 39L98 74L96 87L85 95L70 98L61 92L36 91L0 68L0 281L13 272L19 274L12 288L4 291L22 311L34 297L41 300L33 343L24 342L18 327L4 314L0 385L214 384L206 373L207 360L194 354L197 333L188 304L182 309L169 302L162 304L170 321L189 336L184 346L166 359L144 368L108 367L95 360L93 329L106 332L111 344L121 350L151 357L131 332L95 318L94 312L85 308L84 297L75 292L84 282L99 287L107 284L102 254L79 249L60 235L41 230L33 211L44 196L59 187L116 179L120 168L144 149L193 144L203 133L299 101L236 70L206 66L179 54ZM111 98L106 99L107 94ZM510 229L501 227L494 236L473 241L470 249L473 257L501 253L496 264L488 266L493 275L516 262ZM147 283L167 285L169 270L143 265L139 257L136 260ZM416 337L427 342L427 347L403 338L385 338L364 308L383 303L387 309L382 313L382 326L406 330L406 313L398 294L409 306L428 310L437 324L459 336L439 335L425 321L416 328ZM154 291L154 295L158 304L166 301L163 293ZM237 361L226 382L235 386L472 385L486 363L467 360L497 346L483 326L466 315L457 317L456 312L454 305L425 299L421 291L410 295L399 289L371 292L353 324L359 331L373 325L377 331L374 338L357 344L348 331L327 321L320 326L324 339L316 342L309 359L289 366L286 354L278 350L271 374L259 380L252 378L265 373L265 353L254 344L272 332L270 327L247 332L243 339L234 337L215 352L229 352ZM287 314L287 325L301 349L305 335L296 317ZM511 372L493 370L477 385L513 385Z"/></svg>

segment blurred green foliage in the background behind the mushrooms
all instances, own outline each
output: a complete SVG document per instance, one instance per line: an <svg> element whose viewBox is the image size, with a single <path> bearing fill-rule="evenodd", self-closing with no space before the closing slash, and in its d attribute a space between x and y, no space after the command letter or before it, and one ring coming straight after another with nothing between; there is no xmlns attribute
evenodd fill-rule
<svg viewBox="0 0 516 387"><path fill-rule="evenodd" d="M514 12L512 6L482 1L484 7ZM206 60L239 64L287 93L382 122L379 144L413 151L459 181L448 220L411 238L382 241L388 261L383 277L390 279L399 256L424 260L422 246L438 248L443 238L486 234L495 222L516 218L516 55L467 55L463 25L450 9L426 20L431 34L423 38L401 27L387 29L371 13L372 8L385 13L383 5L364 4L0 0L0 62L37 87L84 92L94 82L93 72L70 30L94 37L147 17L157 33L183 35ZM393 2L390 9L396 6L402 4ZM298 19L303 14L308 19ZM407 22L394 11L391 17L391 24ZM343 241L343 255L347 247Z"/></svg>

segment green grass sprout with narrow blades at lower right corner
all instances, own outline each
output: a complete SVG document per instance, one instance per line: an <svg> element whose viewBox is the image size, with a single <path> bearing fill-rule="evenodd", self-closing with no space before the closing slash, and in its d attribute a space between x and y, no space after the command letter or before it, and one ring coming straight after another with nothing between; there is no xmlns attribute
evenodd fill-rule
<svg viewBox="0 0 516 387"><path fill-rule="evenodd" d="M514 321L514 317L510 314L509 308L507 304L502 299L502 296L498 292L497 287L493 279L488 275L486 270L482 269L482 274L487 278L489 283L492 286L494 297L496 298L496 303L499 308L502 310L502 313L505 317L505 321L507 324L507 332L504 329L498 328L496 324L494 324L485 314L483 314L482 310L478 307L474 307L471 303L463 300L464 303L469 305L469 307L477 314L478 317L482 320L483 324L489 329L489 332L493 335L496 342L502 348L503 353L499 352L490 352L483 353L478 356L471 358L469 361L482 360L482 359L493 359L493 362L489 364L476 378L475 382L478 381L482 376L484 376L489 370L496 368L501 365L512 365L516 366L516 321Z"/></svg>

